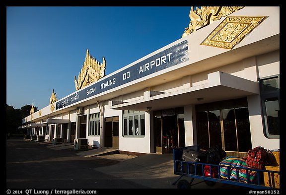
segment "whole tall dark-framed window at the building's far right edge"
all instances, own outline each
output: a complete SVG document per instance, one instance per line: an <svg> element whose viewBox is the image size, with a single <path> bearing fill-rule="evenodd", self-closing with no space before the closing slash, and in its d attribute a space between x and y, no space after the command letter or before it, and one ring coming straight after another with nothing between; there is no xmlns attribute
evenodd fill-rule
<svg viewBox="0 0 286 195"><path fill-rule="evenodd" d="M263 126L268 138L280 138L280 79L279 76L260 80Z"/></svg>

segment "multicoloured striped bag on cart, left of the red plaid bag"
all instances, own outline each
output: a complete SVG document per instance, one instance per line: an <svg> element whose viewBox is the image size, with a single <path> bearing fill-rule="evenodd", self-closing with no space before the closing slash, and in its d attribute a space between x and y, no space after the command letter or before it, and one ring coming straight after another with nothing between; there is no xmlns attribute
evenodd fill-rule
<svg viewBox="0 0 286 195"><path fill-rule="evenodd" d="M237 180L238 182L257 183L257 172L247 170L251 167L246 166L246 160L243 158L229 156L222 160L219 165L223 165L219 169L220 177L223 179L228 179L229 177L230 180ZM227 169L229 170L227 171Z"/></svg>

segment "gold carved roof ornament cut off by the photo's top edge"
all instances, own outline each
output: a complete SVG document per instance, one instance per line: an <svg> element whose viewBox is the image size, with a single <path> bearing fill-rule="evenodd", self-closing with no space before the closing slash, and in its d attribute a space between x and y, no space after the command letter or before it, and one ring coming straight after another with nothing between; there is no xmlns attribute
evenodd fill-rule
<svg viewBox="0 0 286 195"><path fill-rule="evenodd" d="M194 31L209 25L213 21L219 20L221 17L227 16L244 6L194 6L191 7L190 11L190 24L186 28L182 37L185 37Z"/></svg>

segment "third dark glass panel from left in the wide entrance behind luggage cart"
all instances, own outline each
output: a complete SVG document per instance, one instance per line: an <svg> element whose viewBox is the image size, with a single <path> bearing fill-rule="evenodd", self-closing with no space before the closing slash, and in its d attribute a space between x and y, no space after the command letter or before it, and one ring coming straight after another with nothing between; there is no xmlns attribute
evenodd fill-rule
<svg viewBox="0 0 286 195"><path fill-rule="evenodd" d="M223 109L222 119L223 119L223 133L224 133L224 147L225 147L224 150L238 151L234 109Z"/></svg>

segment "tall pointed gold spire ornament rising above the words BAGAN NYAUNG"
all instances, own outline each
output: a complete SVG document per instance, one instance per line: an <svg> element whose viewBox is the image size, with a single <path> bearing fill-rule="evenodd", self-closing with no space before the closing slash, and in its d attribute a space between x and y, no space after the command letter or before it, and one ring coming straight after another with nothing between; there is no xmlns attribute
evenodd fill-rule
<svg viewBox="0 0 286 195"><path fill-rule="evenodd" d="M106 61L105 58L103 58L103 63L100 64L94 57L92 57L88 49L86 49L86 57L85 62L82 65L82 68L79 72L79 75L76 79L76 76L74 76L74 83L75 83L75 89L81 89L82 87L97 81L98 79L102 78L105 72L105 65Z"/></svg>

